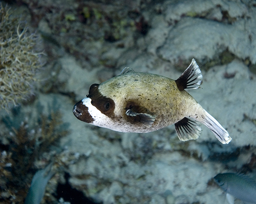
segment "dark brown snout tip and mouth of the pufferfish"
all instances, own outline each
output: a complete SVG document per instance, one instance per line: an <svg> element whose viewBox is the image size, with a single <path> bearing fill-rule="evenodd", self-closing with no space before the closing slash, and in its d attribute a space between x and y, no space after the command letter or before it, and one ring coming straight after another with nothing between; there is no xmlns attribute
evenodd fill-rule
<svg viewBox="0 0 256 204"><path fill-rule="evenodd" d="M83 104L83 101L80 100L73 107L74 116L83 122L92 123L94 121L93 117L88 111L88 107Z"/></svg>

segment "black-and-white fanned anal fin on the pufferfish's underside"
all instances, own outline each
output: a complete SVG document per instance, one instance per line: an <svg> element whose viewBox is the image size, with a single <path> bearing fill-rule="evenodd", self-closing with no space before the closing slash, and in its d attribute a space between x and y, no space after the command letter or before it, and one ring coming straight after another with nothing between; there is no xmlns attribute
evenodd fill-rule
<svg viewBox="0 0 256 204"><path fill-rule="evenodd" d="M196 140L201 133L201 124L185 117L175 123L175 129L181 141Z"/></svg>

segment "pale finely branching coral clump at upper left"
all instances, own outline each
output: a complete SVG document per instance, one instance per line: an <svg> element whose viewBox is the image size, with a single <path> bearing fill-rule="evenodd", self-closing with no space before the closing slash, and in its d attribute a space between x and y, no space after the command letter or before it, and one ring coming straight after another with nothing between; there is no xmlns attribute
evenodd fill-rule
<svg viewBox="0 0 256 204"><path fill-rule="evenodd" d="M0 107L8 110L33 94L42 53L34 51L37 35L29 33L18 18L11 18L2 4L0 36Z"/></svg>

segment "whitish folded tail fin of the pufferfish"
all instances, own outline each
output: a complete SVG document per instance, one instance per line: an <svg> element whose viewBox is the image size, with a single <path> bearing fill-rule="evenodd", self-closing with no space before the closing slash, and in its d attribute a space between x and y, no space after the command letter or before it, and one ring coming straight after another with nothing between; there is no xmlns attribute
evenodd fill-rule
<svg viewBox="0 0 256 204"><path fill-rule="evenodd" d="M228 144L232 140L228 132L206 110L204 112L200 122L208 127L222 144Z"/></svg>

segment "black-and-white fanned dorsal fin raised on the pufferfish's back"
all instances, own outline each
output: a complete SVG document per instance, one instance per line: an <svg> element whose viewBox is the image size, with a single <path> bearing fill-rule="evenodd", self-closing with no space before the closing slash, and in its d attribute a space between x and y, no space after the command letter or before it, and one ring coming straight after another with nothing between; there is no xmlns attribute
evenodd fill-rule
<svg viewBox="0 0 256 204"><path fill-rule="evenodd" d="M202 78L201 70L193 58L191 64L175 82L180 91L184 89L198 89L202 83Z"/></svg>

